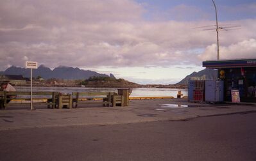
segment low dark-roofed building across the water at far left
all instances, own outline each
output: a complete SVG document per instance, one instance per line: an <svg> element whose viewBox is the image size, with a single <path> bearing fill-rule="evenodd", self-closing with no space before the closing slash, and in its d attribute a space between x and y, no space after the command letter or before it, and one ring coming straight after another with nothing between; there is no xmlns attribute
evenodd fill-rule
<svg viewBox="0 0 256 161"><path fill-rule="evenodd" d="M10 82L13 85L26 84L27 81L22 75L0 75L0 82Z"/></svg>

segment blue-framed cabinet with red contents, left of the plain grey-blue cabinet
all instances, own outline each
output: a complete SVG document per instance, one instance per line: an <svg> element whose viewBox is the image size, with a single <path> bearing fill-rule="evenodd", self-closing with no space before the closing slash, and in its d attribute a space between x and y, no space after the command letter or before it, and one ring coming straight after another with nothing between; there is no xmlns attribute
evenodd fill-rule
<svg viewBox="0 0 256 161"><path fill-rule="evenodd" d="M204 102L205 81L192 80L189 84L189 102Z"/></svg>

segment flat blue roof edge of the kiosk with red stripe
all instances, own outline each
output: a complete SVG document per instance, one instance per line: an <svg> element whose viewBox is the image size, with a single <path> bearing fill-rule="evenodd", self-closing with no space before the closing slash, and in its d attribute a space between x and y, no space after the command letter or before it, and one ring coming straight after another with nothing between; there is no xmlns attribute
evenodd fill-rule
<svg viewBox="0 0 256 161"><path fill-rule="evenodd" d="M206 68L237 68L237 67L253 67L253 66L254 67L256 66L256 58L203 61L203 67L206 67Z"/></svg>

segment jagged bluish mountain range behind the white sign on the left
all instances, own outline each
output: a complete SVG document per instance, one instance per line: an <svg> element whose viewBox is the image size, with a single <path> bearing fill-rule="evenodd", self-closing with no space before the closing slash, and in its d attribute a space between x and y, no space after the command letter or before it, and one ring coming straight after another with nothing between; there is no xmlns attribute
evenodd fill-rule
<svg viewBox="0 0 256 161"><path fill-rule="evenodd" d="M6 75L23 75L23 77L30 77L30 69L11 66L7 68L3 74ZM109 75L93 72L90 70L81 70L80 68L73 68L67 66L58 66L51 70L44 65L40 65L33 70L33 77L41 76L44 79L89 79L89 77L109 77ZM111 77L114 75L111 74Z"/></svg>

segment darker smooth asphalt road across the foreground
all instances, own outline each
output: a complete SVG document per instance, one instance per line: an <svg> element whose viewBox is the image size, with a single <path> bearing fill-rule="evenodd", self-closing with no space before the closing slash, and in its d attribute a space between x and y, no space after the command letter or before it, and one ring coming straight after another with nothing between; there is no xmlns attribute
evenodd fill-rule
<svg viewBox="0 0 256 161"><path fill-rule="evenodd" d="M256 113L0 131L0 160L256 160Z"/></svg>

